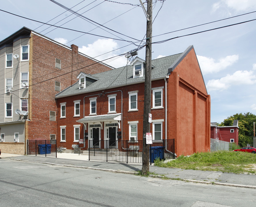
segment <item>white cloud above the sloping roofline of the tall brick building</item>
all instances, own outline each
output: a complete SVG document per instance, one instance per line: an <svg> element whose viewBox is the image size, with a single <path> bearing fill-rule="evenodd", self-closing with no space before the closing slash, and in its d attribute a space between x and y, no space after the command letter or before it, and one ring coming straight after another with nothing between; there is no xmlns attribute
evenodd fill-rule
<svg viewBox="0 0 256 207"><path fill-rule="evenodd" d="M79 52L84 53L90 57L94 57L96 60L106 60L108 58L118 55L118 44L112 39L98 39L92 44L82 46L79 48ZM115 51L113 51L115 50ZM109 52L113 51L113 52ZM106 54L105 54L106 53ZM127 63L126 57L114 57L113 59L105 61L106 64L109 64L115 68L125 66Z"/></svg>

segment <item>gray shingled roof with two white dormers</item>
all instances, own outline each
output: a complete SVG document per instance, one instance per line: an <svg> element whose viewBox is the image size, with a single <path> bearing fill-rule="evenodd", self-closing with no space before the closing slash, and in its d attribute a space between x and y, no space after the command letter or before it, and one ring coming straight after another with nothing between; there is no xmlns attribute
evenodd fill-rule
<svg viewBox="0 0 256 207"><path fill-rule="evenodd" d="M166 76L168 74L168 68L170 68L170 66L172 66L172 64L177 59L179 59L181 54L182 53L152 60L152 66L154 66L154 68L151 70L152 79ZM86 86L86 88L80 90L78 83L75 83L72 86L64 89L60 93L56 94L55 97L61 98L82 93L89 93L93 91L101 91L107 88L110 89L125 85L131 85L139 82L144 82L145 80L145 76L133 78L133 66L130 65L102 73L93 74L91 76L97 78L98 81L95 81L91 85Z"/></svg>

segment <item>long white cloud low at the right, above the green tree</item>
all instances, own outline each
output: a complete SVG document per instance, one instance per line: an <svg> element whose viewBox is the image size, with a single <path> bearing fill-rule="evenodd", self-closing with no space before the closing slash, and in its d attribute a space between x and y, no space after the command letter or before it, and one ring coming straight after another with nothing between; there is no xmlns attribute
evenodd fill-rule
<svg viewBox="0 0 256 207"><path fill-rule="evenodd" d="M223 78L209 80L206 87L208 91L222 91L232 85L252 85L254 83L256 83L256 76L253 71L238 70L233 75L227 74Z"/></svg>

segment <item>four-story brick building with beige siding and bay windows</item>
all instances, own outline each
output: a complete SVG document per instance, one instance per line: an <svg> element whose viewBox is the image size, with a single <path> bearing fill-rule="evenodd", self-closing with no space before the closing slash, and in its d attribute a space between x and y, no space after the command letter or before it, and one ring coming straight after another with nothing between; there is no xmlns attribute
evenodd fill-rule
<svg viewBox="0 0 256 207"><path fill-rule="evenodd" d="M113 68L28 28L0 42L1 151L26 154L27 139L55 139L55 95L76 83L77 72Z"/></svg>

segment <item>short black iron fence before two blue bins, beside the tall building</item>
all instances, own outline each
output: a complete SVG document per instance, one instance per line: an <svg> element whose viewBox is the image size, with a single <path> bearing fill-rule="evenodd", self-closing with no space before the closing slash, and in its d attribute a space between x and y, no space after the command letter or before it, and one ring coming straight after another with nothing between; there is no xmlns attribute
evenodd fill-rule
<svg viewBox="0 0 256 207"><path fill-rule="evenodd" d="M27 140L27 155L57 157L56 139Z"/></svg>

